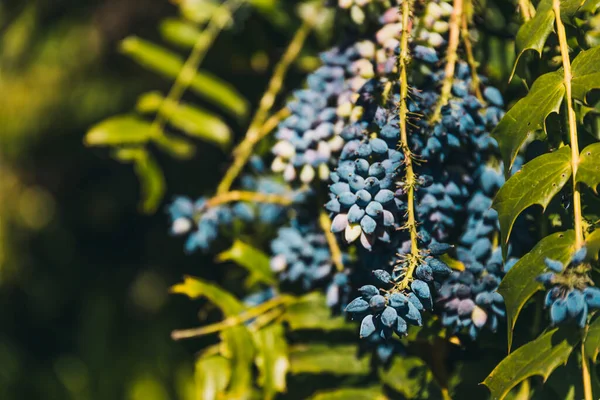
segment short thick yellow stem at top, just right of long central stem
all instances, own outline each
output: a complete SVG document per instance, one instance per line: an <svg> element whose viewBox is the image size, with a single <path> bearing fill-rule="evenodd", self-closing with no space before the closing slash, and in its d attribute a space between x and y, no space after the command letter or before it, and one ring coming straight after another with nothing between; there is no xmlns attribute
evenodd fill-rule
<svg viewBox="0 0 600 400"><path fill-rule="evenodd" d="M452 2L452 7L453 10L452 15L450 15L450 26L448 33L448 49L446 50L446 68L444 69L444 81L442 83L440 97L431 117L431 123L436 123L440 119L442 107L444 107L450 99L450 91L452 90L452 82L454 81L454 68L456 67L456 51L458 49L459 42L463 0L454 0Z"/></svg>

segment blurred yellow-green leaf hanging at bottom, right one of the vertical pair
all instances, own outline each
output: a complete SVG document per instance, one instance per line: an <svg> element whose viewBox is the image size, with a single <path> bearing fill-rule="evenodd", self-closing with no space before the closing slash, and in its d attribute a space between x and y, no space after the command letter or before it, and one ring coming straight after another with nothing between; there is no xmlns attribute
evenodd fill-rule
<svg viewBox="0 0 600 400"><path fill-rule="evenodd" d="M253 334L256 345L258 384L263 388L265 399L286 390L285 377L289 369L288 346L282 324L271 324Z"/></svg>

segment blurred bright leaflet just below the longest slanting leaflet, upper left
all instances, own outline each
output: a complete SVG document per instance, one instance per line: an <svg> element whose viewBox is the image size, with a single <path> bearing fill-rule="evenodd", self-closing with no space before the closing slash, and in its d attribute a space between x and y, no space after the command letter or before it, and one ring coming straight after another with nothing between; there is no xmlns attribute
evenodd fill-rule
<svg viewBox="0 0 600 400"><path fill-rule="evenodd" d="M219 117L201 108L184 103L165 101L158 92L140 96L137 110L142 113L154 113L162 106L169 123L186 134L214 143L226 149L231 144L231 129Z"/></svg>

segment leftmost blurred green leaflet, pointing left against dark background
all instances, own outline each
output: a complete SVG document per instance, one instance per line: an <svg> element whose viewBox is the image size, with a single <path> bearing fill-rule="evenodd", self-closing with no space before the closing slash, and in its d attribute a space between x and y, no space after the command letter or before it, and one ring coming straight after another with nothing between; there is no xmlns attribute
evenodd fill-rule
<svg viewBox="0 0 600 400"><path fill-rule="evenodd" d="M118 115L92 126L86 133L87 146L139 145L150 140L150 123L130 115Z"/></svg>

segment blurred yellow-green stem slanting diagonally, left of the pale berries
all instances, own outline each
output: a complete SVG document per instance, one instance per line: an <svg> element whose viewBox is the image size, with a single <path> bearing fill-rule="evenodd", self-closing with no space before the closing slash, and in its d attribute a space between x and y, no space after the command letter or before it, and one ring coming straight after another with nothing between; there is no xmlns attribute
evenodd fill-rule
<svg viewBox="0 0 600 400"><path fill-rule="evenodd" d="M318 12L315 12L318 14ZM260 99L260 103L258 106L258 110L256 114L254 114L254 118L250 123L250 127L246 132L246 136L244 140L236 147L234 150L234 160L223 180L217 187L217 194L225 193L231 188L233 181L238 177L248 158L252 155L252 150L256 143L260 141L260 139L264 136L261 135L262 126L267 119L269 111L273 107L275 103L275 99L277 94L281 90L281 86L283 85L283 80L285 79L285 75L290 67L290 65L294 62L294 60L300 54L302 47L304 46L304 42L308 37L308 34L312 30L315 24L316 16L313 18L308 18L304 21L300 29L294 35L294 38L288 45L283 57L279 61L279 63L275 66L275 70L273 72L273 76L269 81L269 85L267 87L267 91Z"/></svg>

